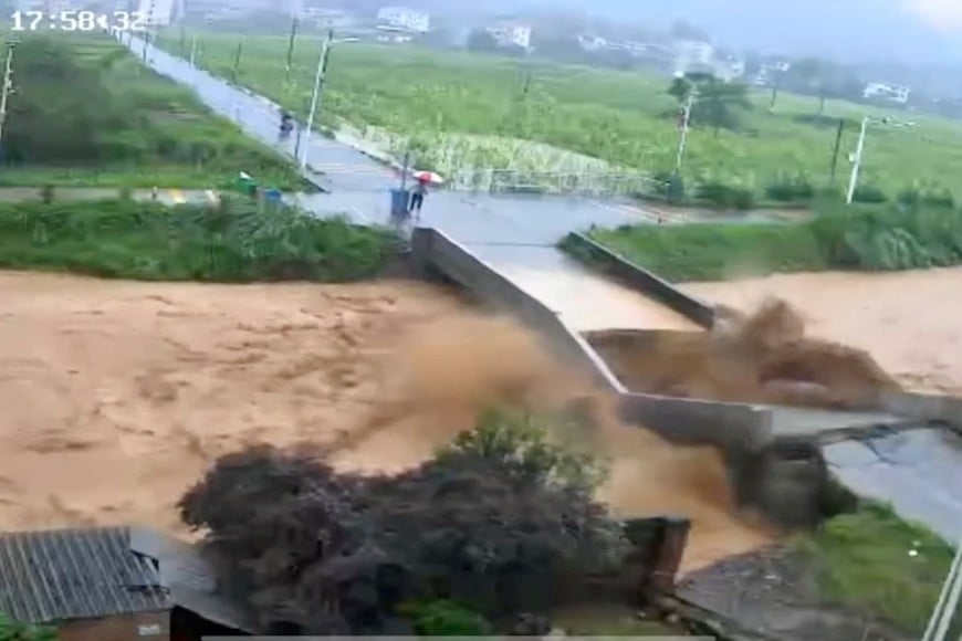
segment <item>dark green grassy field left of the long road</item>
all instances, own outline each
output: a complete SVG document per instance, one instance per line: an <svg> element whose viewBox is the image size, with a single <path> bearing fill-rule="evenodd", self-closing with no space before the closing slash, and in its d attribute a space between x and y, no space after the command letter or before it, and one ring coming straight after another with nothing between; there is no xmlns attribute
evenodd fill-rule
<svg viewBox="0 0 962 641"><path fill-rule="evenodd" d="M13 77L2 186L212 188L241 170L300 185L280 156L104 35L31 34Z"/></svg>

